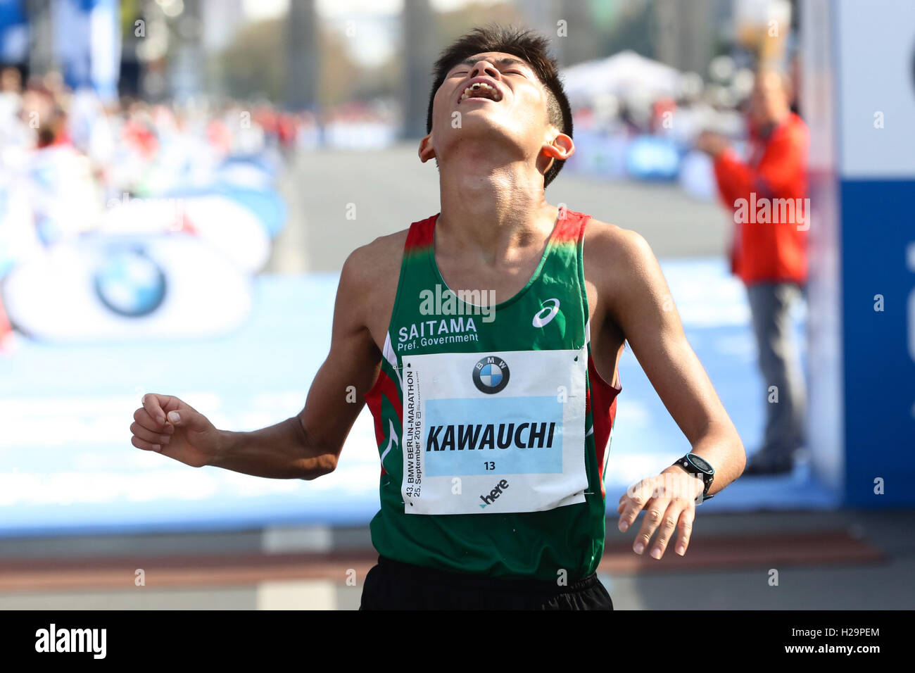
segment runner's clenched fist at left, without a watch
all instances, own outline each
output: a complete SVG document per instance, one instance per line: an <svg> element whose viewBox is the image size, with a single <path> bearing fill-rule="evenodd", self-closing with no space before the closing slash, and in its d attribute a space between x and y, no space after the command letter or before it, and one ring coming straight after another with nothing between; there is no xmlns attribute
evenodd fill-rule
<svg viewBox="0 0 915 673"><path fill-rule="evenodd" d="M178 397L147 393L134 412L130 443L191 467L210 464L219 451L219 430Z"/></svg>

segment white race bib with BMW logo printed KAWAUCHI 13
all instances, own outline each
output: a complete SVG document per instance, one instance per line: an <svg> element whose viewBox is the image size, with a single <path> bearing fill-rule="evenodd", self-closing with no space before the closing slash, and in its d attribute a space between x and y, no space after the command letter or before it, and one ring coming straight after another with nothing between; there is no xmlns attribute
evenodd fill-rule
<svg viewBox="0 0 915 673"><path fill-rule="evenodd" d="M587 347L402 358L406 514L585 502Z"/></svg>

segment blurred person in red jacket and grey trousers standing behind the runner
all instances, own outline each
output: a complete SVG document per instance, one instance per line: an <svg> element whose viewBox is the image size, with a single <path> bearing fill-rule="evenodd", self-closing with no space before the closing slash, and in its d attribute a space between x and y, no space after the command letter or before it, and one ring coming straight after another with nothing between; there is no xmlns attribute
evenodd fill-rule
<svg viewBox="0 0 915 673"><path fill-rule="evenodd" d="M758 71L748 116L747 161L716 134L703 133L696 147L713 157L721 200L734 212L731 269L747 286L766 385L765 439L744 474L777 474L791 471L804 442L806 391L789 314L807 282L809 141L779 71Z"/></svg>

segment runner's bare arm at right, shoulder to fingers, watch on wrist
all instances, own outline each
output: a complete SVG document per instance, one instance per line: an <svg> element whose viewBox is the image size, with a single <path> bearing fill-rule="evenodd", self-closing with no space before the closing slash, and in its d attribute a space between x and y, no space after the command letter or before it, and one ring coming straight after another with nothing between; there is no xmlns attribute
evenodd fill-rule
<svg viewBox="0 0 915 673"><path fill-rule="evenodd" d="M670 288L648 243L638 233L621 229L608 233L608 239L607 252L613 263L601 278L606 286L601 289L608 298L608 319L623 331L690 450L715 469L709 494L716 494L743 472L743 442L686 341ZM677 451L674 458L685 452ZM633 544L636 553L649 548L657 531L651 551L654 558L661 558L676 530L676 552L683 555L692 531L694 498L703 487L701 479L676 466L633 485L620 498L618 511L619 529L625 531L646 510Z"/></svg>

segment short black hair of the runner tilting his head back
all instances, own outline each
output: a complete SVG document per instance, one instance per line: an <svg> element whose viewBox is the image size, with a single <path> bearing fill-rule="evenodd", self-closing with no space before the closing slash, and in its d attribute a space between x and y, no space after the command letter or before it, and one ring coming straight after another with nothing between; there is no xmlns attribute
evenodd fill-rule
<svg viewBox="0 0 915 673"><path fill-rule="evenodd" d="M565 88L559 79L556 60L550 55L550 41L543 35L525 28L490 25L476 27L461 36L444 49L436 60L432 71L432 91L429 92L429 108L425 116L425 132L432 132L432 103L438 88L452 68L474 54L499 51L525 60L533 69L537 79L546 87L546 110L550 124L572 137L572 108L565 96ZM562 170L565 159L554 159L544 173L544 188Z"/></svg>

